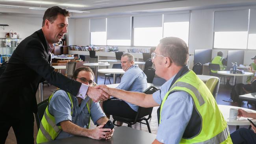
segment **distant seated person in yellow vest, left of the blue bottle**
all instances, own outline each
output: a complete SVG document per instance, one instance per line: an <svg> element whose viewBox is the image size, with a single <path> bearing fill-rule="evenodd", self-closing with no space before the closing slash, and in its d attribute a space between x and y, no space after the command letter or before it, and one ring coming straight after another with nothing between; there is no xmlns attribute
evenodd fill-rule
<svg viewBox="0 0 256 144"><path fill-rule="evenodd" d="M217 56L212 59L211 63L219 64L220 70L226 70L227 60L223 57L223 52L221 51L217 53ZM211 70L211 72L217 73L217 71L215 70ZM226 85L230 86L229 84L230 77L226 76L226 79L227 79Z"/></svg>

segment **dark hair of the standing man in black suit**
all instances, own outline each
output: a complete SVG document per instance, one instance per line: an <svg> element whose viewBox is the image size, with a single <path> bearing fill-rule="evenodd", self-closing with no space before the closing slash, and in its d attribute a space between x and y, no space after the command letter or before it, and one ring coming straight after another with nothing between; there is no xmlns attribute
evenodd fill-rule
<svg viewBox="0 0 256 144"><path fill-rule="evenodd" d="M52 24L54 20L56 20L58 14L64 15L65 17L69 17L69 11L67 11L66 9L62 9L58 6L50 7L45 11L42 26L45 25L46 19L49 20Z"/></svg>

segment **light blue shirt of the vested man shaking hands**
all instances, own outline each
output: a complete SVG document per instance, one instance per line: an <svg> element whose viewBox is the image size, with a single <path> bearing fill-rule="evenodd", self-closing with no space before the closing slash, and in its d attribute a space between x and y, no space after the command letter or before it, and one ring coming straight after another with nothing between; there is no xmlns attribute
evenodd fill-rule
<svg viewBox="0 0 256 144"><path fill-rule="evenodd" d="M160 90L153 93L153 99L161 104L175 76L166 81ZM193 98L184 91L173 92L166 99L161 112L161 123L156 139L164 144L178 144L189 123L193 111Z"/></svg>

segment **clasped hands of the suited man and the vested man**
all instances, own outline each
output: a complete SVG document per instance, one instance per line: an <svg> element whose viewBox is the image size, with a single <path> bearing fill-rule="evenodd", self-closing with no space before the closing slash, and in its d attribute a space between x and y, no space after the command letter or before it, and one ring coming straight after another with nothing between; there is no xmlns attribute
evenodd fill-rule
<svg viewBox="0 0 256 144"><path fill-rule="evenodd" d="M106 85L97 85L94 87L89 87L87 90L87 95L94 101L94 102L103 102L110 98L111 88L107 87Z"/></svg>

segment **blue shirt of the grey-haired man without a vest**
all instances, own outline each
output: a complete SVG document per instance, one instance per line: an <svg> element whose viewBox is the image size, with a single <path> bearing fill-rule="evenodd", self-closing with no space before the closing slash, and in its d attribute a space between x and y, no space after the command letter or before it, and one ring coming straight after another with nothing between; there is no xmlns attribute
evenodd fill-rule
<svg viewBox="0 0 256 144"><path fill-rule="evenodd" d="M147 89L147 76L137 65L133 65L124 73L120 84L116 88L132 92L143 92ZM134 111L138 111L137 105L129 102L126 103Z"/></svg>

